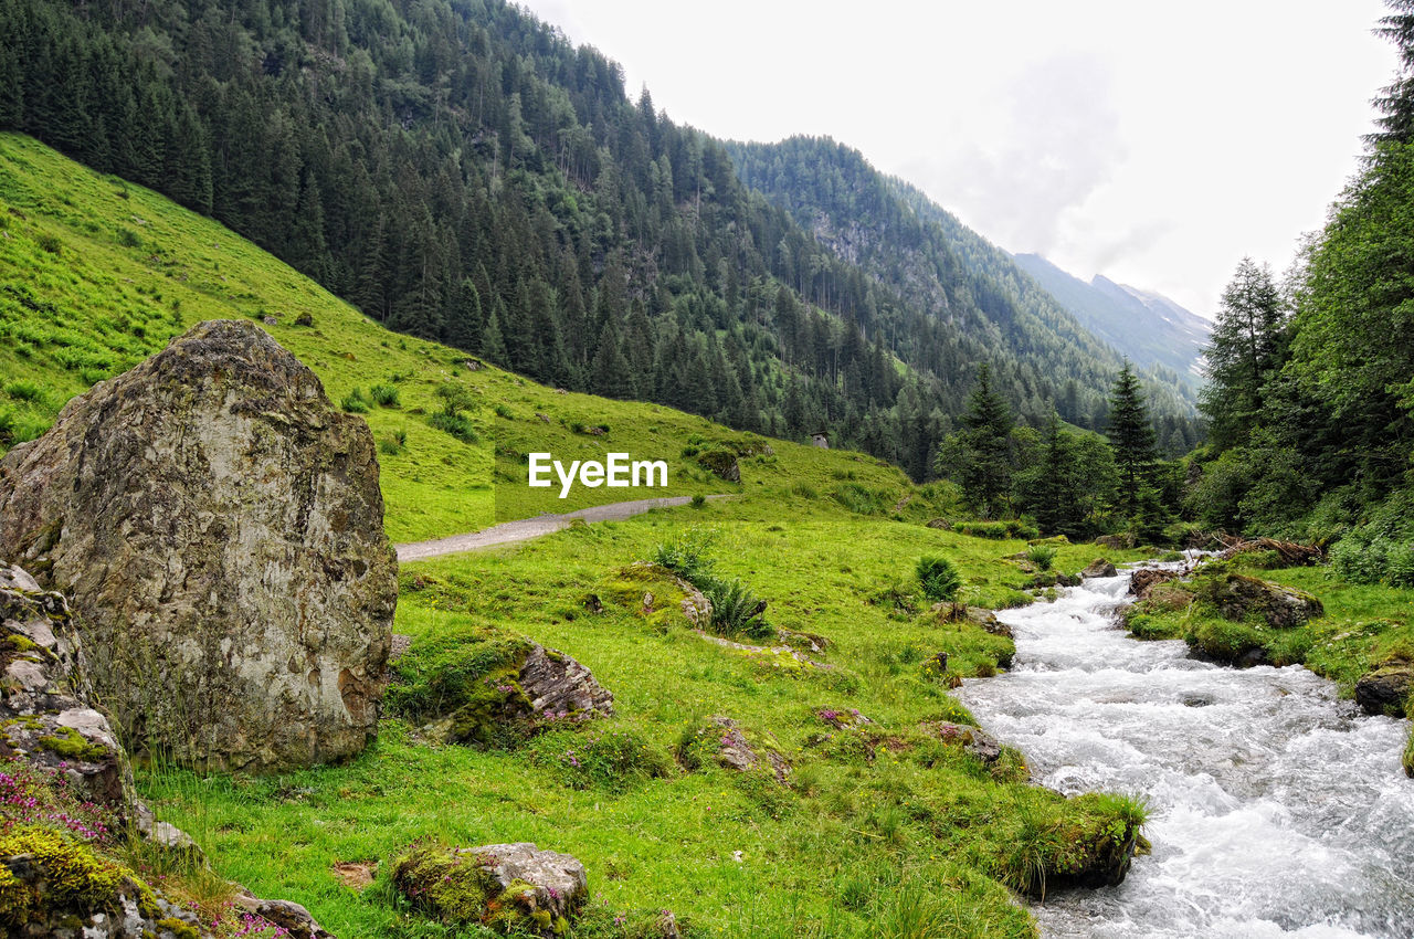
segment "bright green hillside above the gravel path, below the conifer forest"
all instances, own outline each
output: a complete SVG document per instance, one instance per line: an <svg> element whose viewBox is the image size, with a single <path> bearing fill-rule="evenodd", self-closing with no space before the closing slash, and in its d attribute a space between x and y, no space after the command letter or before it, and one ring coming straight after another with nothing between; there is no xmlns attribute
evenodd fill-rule
<svg viewBox="0 0 1414 939"><path fill-rule="evenodd" d="M312 325L296 325L305 314ZM201 320L266 317L276 320L270 334L318 373L331 400L355 392L366 400L395 542L648 495L788 484L827 492L841 484L906 488L899 471L860 454L773 441L772 455L761 438L658 404L559 395L495 368L471 372L465 354L387 332L211 219L28 137L0 134L0 448L38 436L69 397ZM427 421L444 407L437 392L447 385L477 402L468 413L475 443ZM375 386L396 389L397 404L373 402ZM607 433L594 433L604 426ZM740 486L697 460L723 445L752 454L742 460ZM526 485L530 451L566 464L609 451L663 458L670 485L575 486L560 499L557 486Z"/></svg>

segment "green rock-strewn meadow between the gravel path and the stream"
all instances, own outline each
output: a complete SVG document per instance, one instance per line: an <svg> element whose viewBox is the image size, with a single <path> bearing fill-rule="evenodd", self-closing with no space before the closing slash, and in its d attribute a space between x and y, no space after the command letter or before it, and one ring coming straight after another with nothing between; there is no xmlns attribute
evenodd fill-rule
<svg viewBox="0 0 1414 939"><path fill-rule="evenodd" d="M819 665L711 643L676 610L645 614L641 594L619 588L658 544L711 532L708 556L768 600L773 626L826 641L806 653ZM1128 806L1065 800L1027 785L1021 754L987 768L926 733L970 721L949 679L993 673L1011 642L943 622L911 584L918 557L940 553L964 577L963 600L1022 602L1028 576L1003 560L1022 549L768 491L409 564L396 629L413 643L395 682L515 632L587 665L614 692L615 717L491 752L421 742L416 723L393 717L348 766L266 779L168 771L144 789L229 875L308 905L341 936L443 935L376 882L342 885L335 868L423 836L568 851L598 909L670 908L690 935L1029 936L1007 890L1028 875L1022 846L1058 863ZM1077 570L1093 553L1062 547L1056 566ZM602 612L585 608L588 594ZM949 669L929 673L939 651ZM870 723L827 720L851 708ZM713 716L779 750L790 776L689 769L682 742ZM594 754L615 734L633 741L624 765L570 765L571 751ZM629 935L594 922L577 935Z"/></svg>

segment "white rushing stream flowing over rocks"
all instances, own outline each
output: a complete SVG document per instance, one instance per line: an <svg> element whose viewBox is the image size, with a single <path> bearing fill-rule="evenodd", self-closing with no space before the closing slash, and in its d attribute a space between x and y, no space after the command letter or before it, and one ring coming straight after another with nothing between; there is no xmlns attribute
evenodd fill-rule
<svg viewBox="0 0 1414 939"><path fill-rule="evenodd" d="M1237 670L1114 625L1128 573L1000 612L1015 667L962 700L1066 793L1148 799L1154 853L1035 906L1044 936L1414 936L1406 724L1302 667Z"/></svg>

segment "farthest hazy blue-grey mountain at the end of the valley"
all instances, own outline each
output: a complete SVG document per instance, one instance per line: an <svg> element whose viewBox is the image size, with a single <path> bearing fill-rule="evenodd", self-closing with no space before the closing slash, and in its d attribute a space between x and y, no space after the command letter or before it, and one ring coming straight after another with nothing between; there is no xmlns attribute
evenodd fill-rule
<svg viewBox="0 0 1414 939"><path fill-rule="evenodd" d="M1086 283L1041 255L1017 255L1015 260L1086 329L1134 362L1169 369L1195 389L1200 385L1209 321L1168 297L1109 277L1097 274Z"/></svg>

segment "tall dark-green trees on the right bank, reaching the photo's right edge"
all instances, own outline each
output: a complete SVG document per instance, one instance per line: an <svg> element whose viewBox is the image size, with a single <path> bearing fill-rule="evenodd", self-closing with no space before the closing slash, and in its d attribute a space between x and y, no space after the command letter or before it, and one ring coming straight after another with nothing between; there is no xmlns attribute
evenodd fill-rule
<svg viewBox="0 0 1414 939"><path fill-rule="evenodd" d="M1414 585L1414 3L1379 132L1285 290L1244 260L1208 351L1210 525L1329 539L1352 578Z"/></svg>

